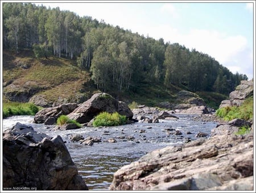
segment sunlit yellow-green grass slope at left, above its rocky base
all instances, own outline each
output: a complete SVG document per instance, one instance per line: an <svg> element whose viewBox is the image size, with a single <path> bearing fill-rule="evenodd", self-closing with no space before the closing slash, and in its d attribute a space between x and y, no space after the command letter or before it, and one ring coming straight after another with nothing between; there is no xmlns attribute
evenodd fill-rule
<svg viewBox="0 0 256 193"><path fill-rule="evenodd" d="M23 69L20 66L28 66ZM94 92L96 89L88 87L90 75L86 71L80 72L76 62L65 58L49 57L36 59L31 51L26 51L18 56L10 52L3 52L3 84L13 82L15 85L24 85L26 82L36 82L44 90L38 94L46 95L47 99L55 100L59 96L74 98L75 95ZM6 99L4 99L4 102Z"/></svg>

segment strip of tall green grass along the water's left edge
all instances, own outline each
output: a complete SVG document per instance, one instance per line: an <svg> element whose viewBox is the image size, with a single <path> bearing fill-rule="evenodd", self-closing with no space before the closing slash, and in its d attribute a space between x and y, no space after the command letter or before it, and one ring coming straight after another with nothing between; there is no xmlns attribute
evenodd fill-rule
<svg viewBox="0 0 256 193"><path fill-rule="evenodd" d="M3 118L14 115L35 115L39 107L32 103L3 103Z"/></svg>

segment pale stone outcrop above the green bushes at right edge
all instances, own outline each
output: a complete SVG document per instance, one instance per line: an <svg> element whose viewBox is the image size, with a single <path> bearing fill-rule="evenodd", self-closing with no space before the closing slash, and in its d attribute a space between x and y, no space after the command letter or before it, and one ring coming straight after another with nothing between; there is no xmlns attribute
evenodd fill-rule
<svg viewBox="0 0 256 193"><path fill-rule="evenodd" d="M229 94L229 100L222 100L219 108L241 106L243 101L251 95L253 95L253 79L250 81L241 81L241 84L236 87L236 90Z"/></svg>

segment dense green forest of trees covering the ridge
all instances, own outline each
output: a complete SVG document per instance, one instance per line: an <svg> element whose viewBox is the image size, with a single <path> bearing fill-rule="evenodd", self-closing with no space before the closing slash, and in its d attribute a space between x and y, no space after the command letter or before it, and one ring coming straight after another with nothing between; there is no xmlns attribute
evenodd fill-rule
<svg viewBox="0 0 256 193"><path fill-rule="evenodd" d="M65 57L90 70L103 91L136 91L139 85L183 86L191 91L229 94L245 74L233 74L208 54L164 43L90 16L3 3L3 49L31 49L36 57ZM86 11L86 4L85 4Z"/></svg>

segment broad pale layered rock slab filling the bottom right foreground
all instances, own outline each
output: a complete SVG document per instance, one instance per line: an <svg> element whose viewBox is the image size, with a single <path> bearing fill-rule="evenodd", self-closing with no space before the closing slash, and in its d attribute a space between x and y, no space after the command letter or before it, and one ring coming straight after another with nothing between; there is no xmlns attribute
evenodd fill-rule
<svg viewBox="0 0 256 193"><path fill-rule="evenodd" d="M228 127L235 126L230 123ZM253 133L218 133L222 134L216 131L209 139L146 154L121 167L109 189L253 190Z"/></svg>

